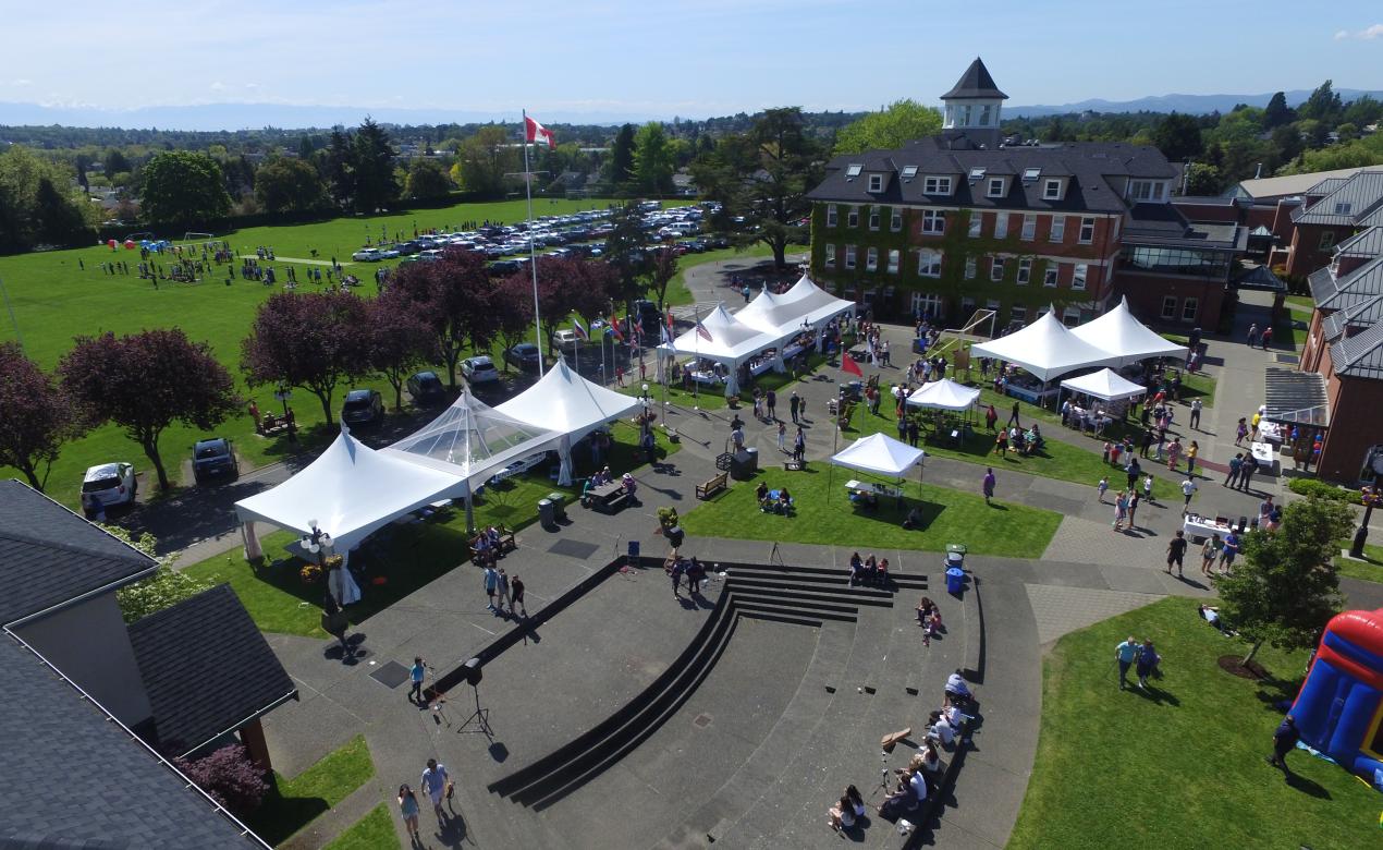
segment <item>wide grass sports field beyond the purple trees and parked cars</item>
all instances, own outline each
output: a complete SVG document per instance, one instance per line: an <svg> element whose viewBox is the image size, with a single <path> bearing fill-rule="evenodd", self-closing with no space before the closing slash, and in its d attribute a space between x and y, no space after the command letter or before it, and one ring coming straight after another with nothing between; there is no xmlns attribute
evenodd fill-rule
<svg viewBox="0 0 1383 850"><path fill-rule="evenodd" d="M538 199L534 201L534 215L602 209L609 204L610 201L604 199ZM256 246L272 246L279 259L268 264L282 271L286 266L295 264L284 257L308 259L314 248L322 260L329 262L335 256L342 263L347 263L350 255L364 244L366 233L372 241L378 242L382 231L386 231L391 238L394 234L412 235L415 226L418 230L434 227L451 230L458 228L465 221L514 223L523 220L524 215L524 201L463 204L447 209L396 216L342 217L313 224L252 227L231 234L216 234L216 237L230 241L236 255L253 256ZM183 234L160 235L181 237ZM689 253L682 257L680 263L685 269L730 256L734 253L726 251ZM112 260L129 263L131 274L113 277L104 274L100 264ZM0 282L4 284L14 310L14 323L10 321L8 314L0 314L0 341L15 339L15 325L18 325L18 336L28 356L51 370L58 359L72 347L73 336L97 335L105 331L131 334L145 328L178 327L191 339L205 341L212 346L221 363L231 370L239 392L246 400L257 400L266 411L278 408L278 403L272 399L272 388L250 390L243 385L239 371L241 341L249 329L254 310L277 289L242 281L239 275L227 287L224 267L219 273L213 271L209 281L199 284L160 281L159 288L155 289L151 282L141 281L137 274L133 274L138 260L137 251L122 248L112 252L105 246L0 257ZM389 260L384 264L394 262ZM346 267L366 281L362 291L369 295L373 293L373 287L369 282L378 266L378 263L353 263ZM306 266L301 266L300 271L303 269ZM690 295L679 281L675 281L669 288L669 300L674 303L690 300ZM386 399L390 397L387 383L382 379L361 382L360 386L373 386L384 393ZM337 389L335 404L340 403L344 389L349 388ZM303 392L295 393L292 404L303 428L303 436L310 442L310 429L322 422L321 404L315 397ZM277 455L288 451L284 439L266 440L256 436L248 415L225 422L217 429L217 433L234 440L236 453L242 458L242 471L250 465L272 461ZM201 436L203 435L198 429L177 425L163 433L160 449L165 464L174 479L181 476L180 462L189 457L192 443ZM155 480L144 453L120 429L109 425L62 449L61 457L53 465L47 493L64 504L76 505L82 472L87 467L118 460L127 460L134 464L137 471L149 472L140 480L141 490L152 494ZM0 475L18 473L4 468L0 469Z"/></svg>

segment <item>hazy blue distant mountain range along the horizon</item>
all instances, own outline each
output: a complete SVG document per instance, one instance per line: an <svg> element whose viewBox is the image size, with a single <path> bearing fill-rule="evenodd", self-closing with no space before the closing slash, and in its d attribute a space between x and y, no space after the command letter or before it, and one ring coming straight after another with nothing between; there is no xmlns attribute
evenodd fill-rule
<svg viewBox="0 0 1383 850"><path fill-rule="evenodd" d="M1346 101L1361 94L1383 98L1383 91L1336 89ZM1297 105L1311 96L1308 89L1288 91L1288 104ZM1075 104L1005 107L1008 116L1039 118L1065 112L1228 112L1236 104L1265 107L1272 93L1265 94L1163 94L1129 101L1083 100ZM41 104L0 102L0 125L69 127L127 127L160 130L248 130L261 127L331 127L355 126L366 115L380 123L438 125L485 123L491 120L517 122L517 112L483 112L474 109L405 109L364 107L296 107L288 104L198 104L191 107L140 107L137 109L102 109L100 107L46 107ZM665 120L668 115L633 115L617 112L544 112L545 123L620 125L646 120ZM694 120L694 119L693 119Z"/></svg>

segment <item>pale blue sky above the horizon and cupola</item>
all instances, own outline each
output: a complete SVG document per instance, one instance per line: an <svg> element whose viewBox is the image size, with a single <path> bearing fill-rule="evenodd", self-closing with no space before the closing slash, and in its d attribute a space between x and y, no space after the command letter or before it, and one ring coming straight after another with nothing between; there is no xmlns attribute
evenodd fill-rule
<svg viewBox="0 0 1383 850"><path fill-rule="evenodd" d="M6 7L11 7L6 10ZM1340 0L0 0L0 101L708 116L1383 89L1383 4Z"/></svg>

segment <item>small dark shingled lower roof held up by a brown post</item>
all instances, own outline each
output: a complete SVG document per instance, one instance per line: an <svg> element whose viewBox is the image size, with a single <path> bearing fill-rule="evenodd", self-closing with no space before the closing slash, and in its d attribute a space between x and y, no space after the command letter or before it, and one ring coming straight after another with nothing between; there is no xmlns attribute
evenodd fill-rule
<svg viewBox="0 0 1383 850"><path fill-rule="evenodd" d="M297 688L249 612L220 584L130 626L159 746L187 754Z"/></svg>

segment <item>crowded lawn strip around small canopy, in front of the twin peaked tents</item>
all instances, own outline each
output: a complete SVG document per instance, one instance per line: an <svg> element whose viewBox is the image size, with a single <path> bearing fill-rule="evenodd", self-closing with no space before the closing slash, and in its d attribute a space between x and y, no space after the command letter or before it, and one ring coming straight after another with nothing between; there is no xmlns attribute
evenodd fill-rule
<svg viewBox="0 0 1383 850"><path fill-rule="evenodd" d="M892 399L888 397L888 401L892 401ZM1000 425L1003 425L1004 419L1005 417L1000 415ZM1046 428L1043 428L1043 431L1061 428L1059 419L1057 424L1044 425ZM841 435L841 440L857 440L859 437L866 437L871 433L880 432L898 439L898 419L893 417L893 404L881 404L878 415L871 414L864 404L856 404L855 414L851 418L851 429ZM978 464L981 467L993 467L994 473L999 476L1003 476L1004 472L1026 472L1028 475L1040 475L1043 478L1088 485L1091 491L1094 491L1095 485L1099 483L1101 476L1105 475L1109 476L1111 487L1117 489L1124 483L1123 468L1104 462L1101 454L1094 451L1095 449L1099 449L1102 443L1095 440L1090 442L1091 450L1087 451L1079 446L1047 437L1047 447L1029 457L1021 457L1015 451L1005 451L1004 455L1000 457L994 454L996 435L985 429L983 421L979 422L975 433L961 443L960 449L953 449L950 446L949 433L950 432L946 432L946 436L942 439L928 440L927 444L921 447L925 449L928 454L936 457L947 457L957 461ZM976 480L982 473L982 471L976 472ZM999 486L1003 487L1003 478L1000 478ZM1163 485L1162 487L1158 487L1158 490L1164 490L1163 497L1170 498L1169 485ZM1156 494L1158 493L1155 490L1153 496Z"/></svg>

